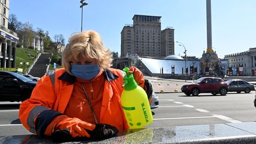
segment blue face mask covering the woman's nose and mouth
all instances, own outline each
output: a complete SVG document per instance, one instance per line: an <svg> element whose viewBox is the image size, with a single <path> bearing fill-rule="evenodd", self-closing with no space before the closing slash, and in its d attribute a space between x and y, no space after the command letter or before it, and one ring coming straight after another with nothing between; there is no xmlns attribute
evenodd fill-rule
<svg viewBox="0 0 256 144"><path fill-rule="evenodd" d="M98 72L100 72L100 67L97 64L93 65L75 65L71 64L71 73L81 79L90 81L94 78Z"/></svg>

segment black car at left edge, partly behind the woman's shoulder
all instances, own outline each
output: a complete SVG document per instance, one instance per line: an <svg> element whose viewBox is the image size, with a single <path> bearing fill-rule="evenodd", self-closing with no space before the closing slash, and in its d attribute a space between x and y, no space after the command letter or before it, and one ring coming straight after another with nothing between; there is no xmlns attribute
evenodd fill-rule
<svg viewBox="0 0 256 144"><path fill-rule="evenodd" d="M19 73L0 71L0 101L25 101L36 83Z"/></svg>

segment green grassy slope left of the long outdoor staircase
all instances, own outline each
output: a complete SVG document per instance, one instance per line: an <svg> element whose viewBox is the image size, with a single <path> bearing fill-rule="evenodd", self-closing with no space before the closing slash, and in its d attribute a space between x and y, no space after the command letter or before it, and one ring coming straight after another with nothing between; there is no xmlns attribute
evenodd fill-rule
<svg viewBox="0 0 256 144"><path fill-rule="evenodd" d="M23 65L20 65L20 62L29 63L28 65L25 65L25 71L32 65L34 60L36 60L38 53L37 50L33 49L25 49L25 48L19 48L16 49L16 60L15 60L15 68L21 68L23 69Z"/></svg>

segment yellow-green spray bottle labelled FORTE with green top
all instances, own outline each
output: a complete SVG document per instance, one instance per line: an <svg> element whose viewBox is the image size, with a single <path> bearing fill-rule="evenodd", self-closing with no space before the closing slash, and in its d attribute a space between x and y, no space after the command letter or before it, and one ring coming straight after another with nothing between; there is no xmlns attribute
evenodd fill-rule
<svg viewBox="0 0 256 144"><path fill-rule="evenodd" d="M137 85L133 74L128 73L129 68L124 68L123 71L126 75L123 76L121 105L130 129L140 129L153 121L148 96L145 90Z"/></svg>

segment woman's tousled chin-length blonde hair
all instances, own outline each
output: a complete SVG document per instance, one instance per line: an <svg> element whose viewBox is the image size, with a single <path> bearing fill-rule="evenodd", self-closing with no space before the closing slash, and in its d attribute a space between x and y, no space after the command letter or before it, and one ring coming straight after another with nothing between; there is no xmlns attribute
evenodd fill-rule
<svg viewBox="0 0 256 144"><path fill-rule="evenodd" d="M71 62L84 58L97 59L97 63L102 69L110 68L112 53L110 49L104 49L100 34L96 31L84 31L72 34L69 43L62 53L62 64L65 71L71 73Z"/></svg>

